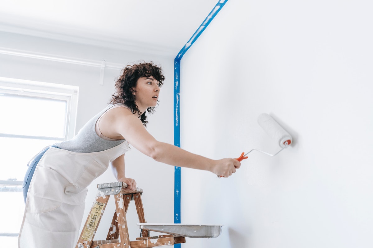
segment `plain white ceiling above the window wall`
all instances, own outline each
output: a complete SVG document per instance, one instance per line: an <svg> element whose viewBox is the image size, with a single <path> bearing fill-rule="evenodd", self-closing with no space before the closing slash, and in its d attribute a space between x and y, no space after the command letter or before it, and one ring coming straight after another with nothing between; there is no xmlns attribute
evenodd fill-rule
<svg viewBox="0 0 373 248"><path fill-rule="evenodd" d="M177 55L218 0L3 0L0 31Z"/></svg>

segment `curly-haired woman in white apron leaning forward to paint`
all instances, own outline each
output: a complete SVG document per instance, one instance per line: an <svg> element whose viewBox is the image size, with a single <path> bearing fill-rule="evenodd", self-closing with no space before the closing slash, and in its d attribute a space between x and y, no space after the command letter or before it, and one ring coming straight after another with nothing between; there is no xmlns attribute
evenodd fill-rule
<svg viewBox="0 0 373 248"><path fill-rule="evenodd" d="M19 247L75 247L87 186L109 164L118 181L136 189L135 180L125 175L128 144L166 164L224 177L235 173L241 165L236 159L211 160L159 142L146 131L145 113L153 112L163 80L161 68L151 62L126 66L109 106L73 139L45 148L30 161L23 187L26 207Z"/></svg>

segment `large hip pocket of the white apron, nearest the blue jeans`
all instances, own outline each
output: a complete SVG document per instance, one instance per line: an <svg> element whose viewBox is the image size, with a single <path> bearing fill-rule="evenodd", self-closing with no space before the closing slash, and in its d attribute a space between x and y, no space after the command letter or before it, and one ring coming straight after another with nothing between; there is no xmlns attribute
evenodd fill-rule
<svg viewBox="0 0 373 248"><path fill-rule="evenodd" d="M27 212L43 213L59 207L68 184L68 180L56 171L38 166L28 191Z"/></svg>

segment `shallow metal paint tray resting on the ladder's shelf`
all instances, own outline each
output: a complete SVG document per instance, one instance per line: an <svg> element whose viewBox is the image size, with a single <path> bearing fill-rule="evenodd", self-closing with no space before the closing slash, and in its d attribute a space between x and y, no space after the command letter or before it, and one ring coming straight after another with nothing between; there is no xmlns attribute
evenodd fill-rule
<svg viewBox="0 0 373 248"><path fill-rule="evenodd" d="M222 231L221 225L196 224L163 224L163 223L137 223L140 229L154 232L163 232L189 238L216 238Z"/></svg>

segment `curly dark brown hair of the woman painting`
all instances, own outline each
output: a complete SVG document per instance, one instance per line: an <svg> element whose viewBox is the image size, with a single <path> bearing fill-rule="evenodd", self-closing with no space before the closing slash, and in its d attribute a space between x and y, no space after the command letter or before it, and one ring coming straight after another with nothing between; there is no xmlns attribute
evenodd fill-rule
<svg viewBox="0 0 373 248"><path fill-rule="evenodd" d="M122 70L122 75L116 78L115 90L116 92L112 95L112 100L110 103L122 103L128 106L132 113L137 113L140 115L140 119L144 126L146 126L146 115L140 113L138 106L135 103L135 96L132 94L133 87L136 87L137 80L140 77L150 77L153 76L154 79L159 81L159 87L162 87L165 77L162 74L162 67L158 67L153 62L143 62L135 65L127 65ZM148 107L147 112L154 113L154 107Z"/></svg>

